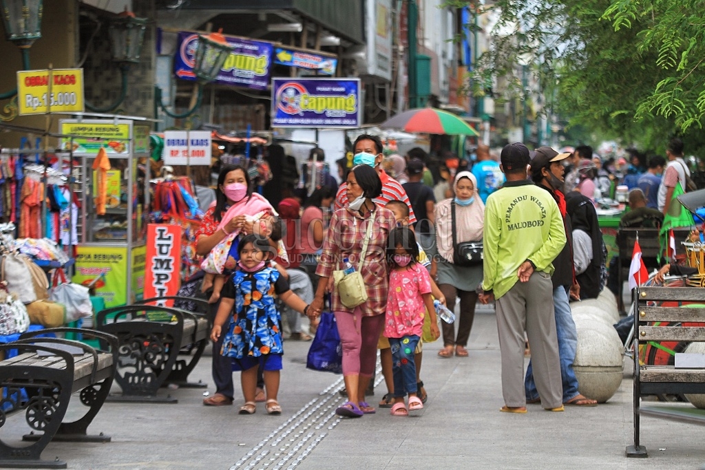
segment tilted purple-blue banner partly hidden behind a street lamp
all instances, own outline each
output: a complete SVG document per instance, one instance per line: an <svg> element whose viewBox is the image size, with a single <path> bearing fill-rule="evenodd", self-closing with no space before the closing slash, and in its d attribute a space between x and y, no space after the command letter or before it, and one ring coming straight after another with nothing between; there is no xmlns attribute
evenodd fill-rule
<svg viewBox="0 0 705 470"><path fill-rule="evenodd" d="M178 34L178 47L174 58L174 74L183 80L196 81L193 72L198 35L191 32ZM250 41L225 37L233 51L226 58L215 83L252 89L266 89L271 73L271 55L274 47L269 42Z"/></svg>

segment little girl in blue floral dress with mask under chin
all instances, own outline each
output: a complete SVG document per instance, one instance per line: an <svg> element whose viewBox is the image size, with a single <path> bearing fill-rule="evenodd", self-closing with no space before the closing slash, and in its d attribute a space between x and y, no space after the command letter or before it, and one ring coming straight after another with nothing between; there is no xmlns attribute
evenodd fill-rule
<svg viewBox="0 0 705 470"><path fill-rule="evenodd" d="M211 339L217 341L225 330L221 354L233 358L233 366L242 372L240 380L245 404L240 414L256 411L257 367L264 370L266 412L281 414L277 401L281 371L281 316L275 295L292 309L307 314L309 306L291 292L289 284L267 261L272 256L269 240L247 235L238 245L239 270L227 280L221 291L221 304L216 314Z"/></svg>

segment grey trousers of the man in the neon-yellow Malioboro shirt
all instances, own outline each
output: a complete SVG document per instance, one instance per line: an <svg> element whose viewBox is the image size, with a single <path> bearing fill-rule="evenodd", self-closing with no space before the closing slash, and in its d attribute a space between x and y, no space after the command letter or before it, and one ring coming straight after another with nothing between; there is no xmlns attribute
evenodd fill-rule
<svg viewBox="0 0 705 470"><path fill-rule="evenodd" d="M551 276L534 272L497 299L497 330L502 354L502 394L508 407L526 406L524 390L524 332L529 338L532 366L541 406L563 402L556 319L553 316Z"/></svg>

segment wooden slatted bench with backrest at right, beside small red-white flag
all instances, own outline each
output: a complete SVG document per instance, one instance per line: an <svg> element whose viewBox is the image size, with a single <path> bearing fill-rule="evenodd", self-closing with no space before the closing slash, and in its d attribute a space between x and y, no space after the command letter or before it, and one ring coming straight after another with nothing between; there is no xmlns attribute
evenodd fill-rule
<svg viewBox="0 0 705 470"><path fill-rule="evenodd" d="M647 342L705 341L705 308L663 307L663 302L702 302L701 287L639 287L635 351ZM666 323L667 326L659 325ZM681 325L680 323L687 323ZM695 322L695 323L694 323ZM701 322L701 323L700 323ZM673 323L677 323L675 326ZM627 446L627 457L647 457L646 447L639 443L640 416L653 416L685 423L705 425L705 410L687 406L642 406L641 397L658 394L705 393L705 369L675 369L675 366L639 364L634 354L634 445Z"/></svg>

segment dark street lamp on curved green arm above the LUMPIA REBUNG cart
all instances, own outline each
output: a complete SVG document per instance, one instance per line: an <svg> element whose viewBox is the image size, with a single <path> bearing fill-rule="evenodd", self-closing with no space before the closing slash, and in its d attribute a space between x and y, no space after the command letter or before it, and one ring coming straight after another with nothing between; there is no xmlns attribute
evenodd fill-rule
<svg viewBox="0 0 705 470"><path fill-rule="evenodd" d="M110 20L108 35L110 38L110 51L113 61L118 63L122 78L120 95L118 99L108 106L99 108L85 101L85 106L95 113L107 113L113 111L125 101L128 94L128 70L133 63L140 63L140 53L142 52L142 42L145 41L145 30L147 30L147 18L136 18L135 13L125 11Z"/></svg>

